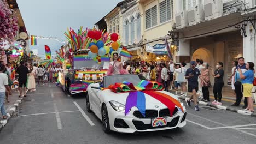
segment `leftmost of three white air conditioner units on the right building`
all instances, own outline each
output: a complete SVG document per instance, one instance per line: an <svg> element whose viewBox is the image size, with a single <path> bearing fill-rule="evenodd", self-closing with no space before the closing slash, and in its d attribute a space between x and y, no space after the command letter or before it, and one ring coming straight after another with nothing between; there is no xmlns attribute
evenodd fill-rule
<svg viewBox="0 0 256 144"><path fill-rule="evenodd" d="M188 11L182 11L175 16L176 28L183 28L188 26Z"/></svg>

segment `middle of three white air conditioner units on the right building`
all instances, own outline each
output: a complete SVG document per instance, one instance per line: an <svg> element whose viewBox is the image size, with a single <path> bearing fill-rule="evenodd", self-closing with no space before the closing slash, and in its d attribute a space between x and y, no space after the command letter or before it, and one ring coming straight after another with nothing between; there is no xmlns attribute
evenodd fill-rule
<svg viewBox="0 0 256 144"><path fill-rule="evenodd" d="M203 5L199 4L189 9L188 11L188 22L189 26L195 25L205 19L205 13L203 11Z"/></svg>

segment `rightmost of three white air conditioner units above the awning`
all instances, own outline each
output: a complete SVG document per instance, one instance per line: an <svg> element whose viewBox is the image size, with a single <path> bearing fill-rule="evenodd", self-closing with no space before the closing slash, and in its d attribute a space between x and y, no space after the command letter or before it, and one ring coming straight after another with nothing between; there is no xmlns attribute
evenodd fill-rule
<svg viewBox="0 0 256 144"><path fill-rule="evenodd" d="M205 20L216 19L223 15L222 0L205 0Z"/></svg>

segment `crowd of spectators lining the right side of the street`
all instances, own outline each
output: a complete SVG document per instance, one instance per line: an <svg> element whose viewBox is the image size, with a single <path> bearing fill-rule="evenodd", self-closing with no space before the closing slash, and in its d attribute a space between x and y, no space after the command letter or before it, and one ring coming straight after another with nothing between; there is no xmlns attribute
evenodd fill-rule
<svg viewBox="0 0 256 144"><path fill-rule="evenodd" d="M243 111L254 112L252 88L254 81L254 63L247 62L243 57L234 61L232 68L232 89L236 97L236 102L231 106L239 106L244 97ZM199 110L197 101L210 102L209 87L213 86L214 101L213 105L222 105L222 89L224 87L224 65L223 62L216 63L216 67L211 67L202 59L190 62L190 68L185 68L187 64L174 64L172 59L168 64L161 62L159 64L142 64L131 65L125 62L123 69L129 71L130 74L141 74L147 80L158 81L162 83L165 91L175 90L178 94L178 88L181 88L181 95L187 97L187 93L192 93L191 97L185 99L188 106L191 106L191 101L195 104L195 110ZM213 85L211 84L211 76L214 78ZM199 98L197 99L197 95Z"/></svg>

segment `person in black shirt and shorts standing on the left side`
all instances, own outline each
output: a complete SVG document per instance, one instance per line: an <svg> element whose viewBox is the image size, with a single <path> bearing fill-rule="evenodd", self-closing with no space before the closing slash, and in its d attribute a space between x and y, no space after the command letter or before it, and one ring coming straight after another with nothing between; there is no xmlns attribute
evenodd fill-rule
<svg viewBox="0 0 256 144"><path fill-rule="evenodd" d="M24 97L26 97L27 74L30 73L30 71L28 71L28 68L24 64L24 61L20 61L20 66L16 69L16 72L19 74L19 98L22 97L22 87L24 87Z"/></svg>

